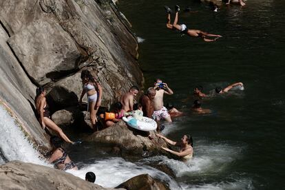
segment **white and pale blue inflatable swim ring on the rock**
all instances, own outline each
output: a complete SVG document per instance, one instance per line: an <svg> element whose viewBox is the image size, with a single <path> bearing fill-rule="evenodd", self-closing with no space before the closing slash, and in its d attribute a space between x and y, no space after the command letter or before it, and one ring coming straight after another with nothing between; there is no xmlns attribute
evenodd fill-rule
<svg viewBox="0 0 285 190"><path fill-rule="evenodd" d="M123 117L123 120L129 125L129 127L133 127L134 129L138 129L140 131L154 131L156 127L158 127L155 120L147 117L142 117L142 120L136 120L133 117Z"/></svg>

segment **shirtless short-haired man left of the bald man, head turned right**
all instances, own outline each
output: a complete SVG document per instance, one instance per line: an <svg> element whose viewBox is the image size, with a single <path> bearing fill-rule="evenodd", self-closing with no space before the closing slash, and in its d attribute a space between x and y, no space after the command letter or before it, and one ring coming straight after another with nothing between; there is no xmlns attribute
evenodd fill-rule
<svg viewBox="0 0 285 190"><path fill-rule="evenodd" d="M129 89L129 92L127 92L120 98L120 103L122 103L125 112L130 112L131 110L133 110L134 97L138 94L138 91L138 87L132 86Z"/></svg>

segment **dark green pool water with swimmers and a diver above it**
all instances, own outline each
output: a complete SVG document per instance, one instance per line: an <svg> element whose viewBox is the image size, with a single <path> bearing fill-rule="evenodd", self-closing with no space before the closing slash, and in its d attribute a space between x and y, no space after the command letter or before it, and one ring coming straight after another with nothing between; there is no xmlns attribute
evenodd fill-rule
<svg viewBox="0 0 285 190"><path fill-rule="evenodd" d="M187 188L282 189L284 178L285 1L248 1L246 7L222 7L213 12L195 1L122 0L119 9L133 25L145 87L162 78L173 89L165 97L185 112L167 125L170 138L191 134L194 154L207 169L185 171L176 181ZM179 23L223 37L214 43L180 36L165 27L165 10L176 4L191 13ZM173 18L172 18L173 19ZM202 101L208 116L191 114L195 85L209 93L242 81L245 90ZM187 99L188 98L188 99ZM185 101L186 99L186 101ZM209 167L207 167L209 165ZM200 165L198 165L200 166ZM235 183L231 183L235 182ZM242 186L235 187L235 184ZM186 189L187 189L186 188Z"/></svg>

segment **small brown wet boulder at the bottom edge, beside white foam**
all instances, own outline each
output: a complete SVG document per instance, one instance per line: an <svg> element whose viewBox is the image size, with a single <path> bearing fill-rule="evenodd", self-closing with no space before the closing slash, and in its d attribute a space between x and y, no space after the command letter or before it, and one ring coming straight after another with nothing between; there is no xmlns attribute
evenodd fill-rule
<svg viewBox="0 0 285 190"><path fill-rule="evenodd" d="M135 176L122 184L119 184L116 188L125 188L128 190L167 190L168 187L165 186L162 182L151 178L148 174L142 174Z"/></svg>

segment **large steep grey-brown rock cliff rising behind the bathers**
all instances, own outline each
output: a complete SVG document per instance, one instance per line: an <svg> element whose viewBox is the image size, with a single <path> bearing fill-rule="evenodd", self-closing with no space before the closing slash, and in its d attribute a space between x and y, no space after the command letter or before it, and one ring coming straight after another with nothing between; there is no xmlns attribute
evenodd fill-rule
<svg viewBox="0 0 285 190"><path fill-rule="evenodd" d="M0 23L0 99L45 148L33 110L36 85L56 110L78 103L84 68L103 86L105 106L142 84L136 38L112 1L1 0Z"/></svg>

